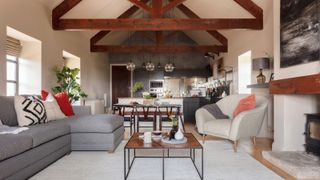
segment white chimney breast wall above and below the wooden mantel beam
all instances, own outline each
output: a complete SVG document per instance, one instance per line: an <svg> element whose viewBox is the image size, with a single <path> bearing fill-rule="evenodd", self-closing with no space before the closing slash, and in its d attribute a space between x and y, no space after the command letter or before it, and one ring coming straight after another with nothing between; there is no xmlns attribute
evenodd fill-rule
<svg viewBox="0 0 320 180"><path fill-rule="evenodd" d="M280 68L280 1L274 3L274 71L275 79L284 79L316 74L320 62ZM274 96L274 143L275 151L303 151L305 113L319 111L319 96L275 95Z"/></svg>

